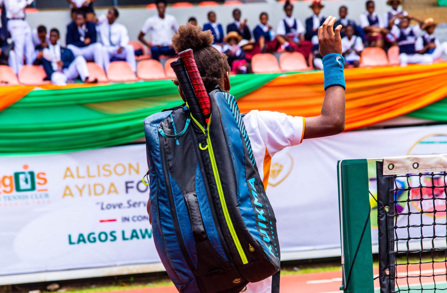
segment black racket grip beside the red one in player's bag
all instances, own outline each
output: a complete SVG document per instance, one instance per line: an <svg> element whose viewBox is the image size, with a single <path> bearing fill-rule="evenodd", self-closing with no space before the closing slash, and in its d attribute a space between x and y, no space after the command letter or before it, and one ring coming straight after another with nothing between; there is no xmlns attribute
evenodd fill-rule
<svg viewBox="0 0 447 293"><path fill-rule="evenodd" d="M203 117L202 109L198 104L197 97L195 96L194 89L191 85L190 78L188 77L188 72L183 65L181 59L171 62L171 68L173 69L175 75L177 76L178 83L180 85L183 96L185 97L186 103L190 108L191 115L194 116L197 121L202 125L207 125L205 122L205 117Z"/></svg>

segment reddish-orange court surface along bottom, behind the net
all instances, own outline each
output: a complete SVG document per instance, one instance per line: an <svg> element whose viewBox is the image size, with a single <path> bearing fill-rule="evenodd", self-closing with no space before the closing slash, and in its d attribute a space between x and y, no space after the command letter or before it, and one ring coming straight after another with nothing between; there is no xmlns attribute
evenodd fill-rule
<svg viewBox="0 0 447 293"><path fill-rule="evenodd" d="M411 285L424 285L424 288L433 288L434 281L438 286L446 286L447 283L447 267L445 263L432 264L418 264L409 265L408 273L407 266L399 266L397 269L398 276L419 276L419 272L422 271L422 275L427 277L412 277L408 278L408 284ZM434 272L434 273L433 273ZM374 274L377 276L378 269L375 268ZM443 275L443 276L431 276ZM430 277L428 277L430 276ZM398 284L401 287L407 287L407 279L399 279ZM440 284L440 285L438 285ZM281 276L281 293L341 293L339 291L340 285L342 285L342 272L318 272L311 274L298 274L293 276ZM375 288L378 289L379 281L375 281ZM443 288L444 288L443 287ZM143 288L143 289L131 289L125 291L114 291L109 293L177 293L177 289L174 286L156 287L156 288ZM377 292L377 290L376 290Z"/></svg>

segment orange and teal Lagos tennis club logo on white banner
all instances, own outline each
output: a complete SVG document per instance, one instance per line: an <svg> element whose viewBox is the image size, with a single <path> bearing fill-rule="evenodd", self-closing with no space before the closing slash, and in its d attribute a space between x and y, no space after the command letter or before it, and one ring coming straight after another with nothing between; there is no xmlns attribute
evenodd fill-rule
<svg viewBox="0 0 447 293"><path fill-rule="evenodd" d="M32 170L26 164L21 169L0 173L0 207L50 203L46 173Z"/></svg>

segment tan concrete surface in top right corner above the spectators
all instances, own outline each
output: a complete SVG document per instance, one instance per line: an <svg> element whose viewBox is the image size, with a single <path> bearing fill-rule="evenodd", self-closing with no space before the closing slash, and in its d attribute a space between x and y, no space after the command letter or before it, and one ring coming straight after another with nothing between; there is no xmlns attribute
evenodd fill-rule
<svg viewBox="0 0 447 293"><path fill-rule="evenodd" d="M438 22L447 22L447 7L436 6L436 0L403 0L403 8L421 19L433 17Z"/></svg>

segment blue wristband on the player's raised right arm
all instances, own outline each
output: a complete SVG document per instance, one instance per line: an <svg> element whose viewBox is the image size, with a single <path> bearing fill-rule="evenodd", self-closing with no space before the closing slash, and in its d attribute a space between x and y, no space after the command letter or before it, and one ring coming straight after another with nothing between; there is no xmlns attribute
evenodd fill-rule
<svg viewBox="0 0 447 293"><path fill-rule="evenodd" d="M331 53L323 57L323 71L325 73L325 90L333 85L342 86L346 89L345 75L345 59L342 55Z"/></svg>

